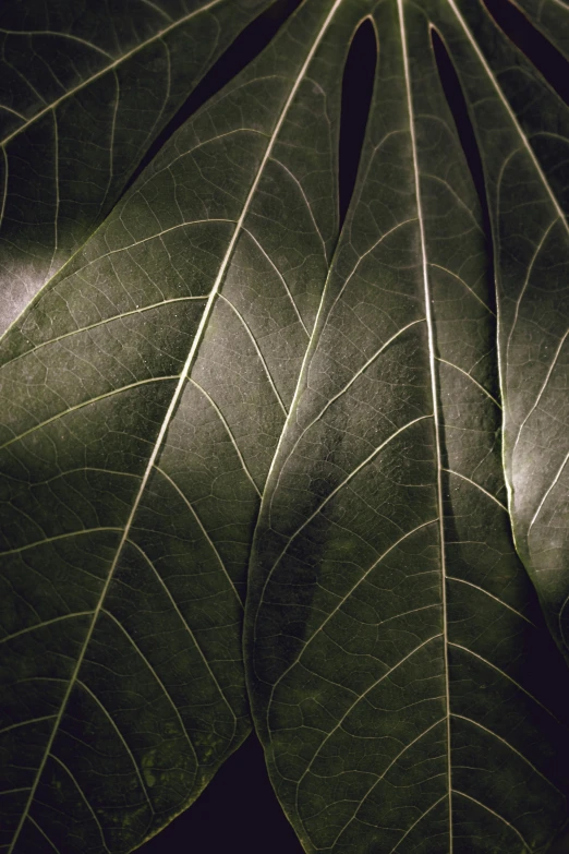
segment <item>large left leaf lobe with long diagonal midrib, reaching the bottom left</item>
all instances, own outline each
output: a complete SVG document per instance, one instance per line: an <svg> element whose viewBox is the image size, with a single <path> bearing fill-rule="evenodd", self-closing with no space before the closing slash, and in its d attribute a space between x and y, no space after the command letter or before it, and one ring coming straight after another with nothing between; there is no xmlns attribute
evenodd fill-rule
<svg viewBox="0 0 569 854"><path fill-rule="evenodd" d="M197 113L4 336L9 854L130 851L249 732L250 541L337 239L332 11Z"/></svg>

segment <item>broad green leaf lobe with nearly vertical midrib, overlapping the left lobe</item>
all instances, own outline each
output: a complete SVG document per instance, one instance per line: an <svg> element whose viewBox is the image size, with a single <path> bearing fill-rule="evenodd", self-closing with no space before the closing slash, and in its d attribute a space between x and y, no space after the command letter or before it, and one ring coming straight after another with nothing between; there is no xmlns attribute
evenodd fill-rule
<svg viewBox="0 0 569 854"><path fill-rule="evenodd" d="M491 252L431 40L485 82L461 8L360 5L368 136L254 540L253 713L307 852L528 854L567 817L567 672L512 542Z"/></svg>

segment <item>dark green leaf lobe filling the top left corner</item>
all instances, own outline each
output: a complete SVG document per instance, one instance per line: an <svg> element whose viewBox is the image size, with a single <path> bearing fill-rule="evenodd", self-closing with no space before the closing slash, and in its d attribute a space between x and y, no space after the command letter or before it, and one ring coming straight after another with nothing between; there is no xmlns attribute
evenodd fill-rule
<svg viewBox="0 0 569 854"><path fill-rule="evenodd" d="M270 0L0 9L0 333L98 226L149 143Z"/></svg>

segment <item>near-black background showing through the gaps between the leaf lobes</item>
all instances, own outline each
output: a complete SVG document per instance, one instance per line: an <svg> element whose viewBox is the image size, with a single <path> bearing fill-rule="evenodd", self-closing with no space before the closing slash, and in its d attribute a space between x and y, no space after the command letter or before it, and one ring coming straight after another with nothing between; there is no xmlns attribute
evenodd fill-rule
<svg viewBox="0 0 569 854"><path fill-rule="evenodd" d="M302 0L277 0L221 56L141 163L131 183L171 134L251 62ZM472 0L474 2L474 0ZM569 63L537 33L509 0L484 0L507 35L534 62L569 104ZM483 207L482 166L458 79L443 46L435 44L445 92L477 187ZM340 128L340 215L355 182L372 95L376 46L371 24L358 31L346 64ZM263 749L252 734L218 771L192 807L141 849L141 854L302 854L302 847L273 791ZM569 854L569 839L550 854Z"/></svg>

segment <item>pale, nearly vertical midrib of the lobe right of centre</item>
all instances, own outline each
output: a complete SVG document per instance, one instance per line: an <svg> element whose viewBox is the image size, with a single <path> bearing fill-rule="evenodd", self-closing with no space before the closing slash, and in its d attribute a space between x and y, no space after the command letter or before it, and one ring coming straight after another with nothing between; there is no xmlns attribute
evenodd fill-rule
<svg viewBox="0 0 569 854"><path fill-rule="evenodd" d="M425 314L427 321L428 339L428 364L431 373L431 395L433 398L433 421L435 425L435 446L436 446L436 467L437 467L437 505L438 505L438 530L440 542L440 569L441 569L441 606L443 606L443 641L445 654L445 687L446 687L446 721L447 721L447 780L448 780L448 821L449 821L449 854L452 854L452 767L450 759L450 690L449 690L449 667L448 667L448 624L447 624L447 568L445 554L445 526L444 526L444 505L443 505L443 462L440 458L440 422L437 405L437 378L435 364L435 332L432 311L431 287L428 281L428 264L426 255L425 227L423 219L423 207L421 200L421 181L419 176L417 149L415 139L415 119L413 110L413 98L411 94L411 75L409 71L409 56L407 50L407 34L403 13L403 0L397 0L399 11L399 25L401 29L401 49L403 55L403 69L405 77L405 91L409 115L409 130L411 136L411 148L413 155L413 173L415 182L415 197L419 218L419 230L421 236L421 260L423 268L423 286L425 300Z"/></svg>

